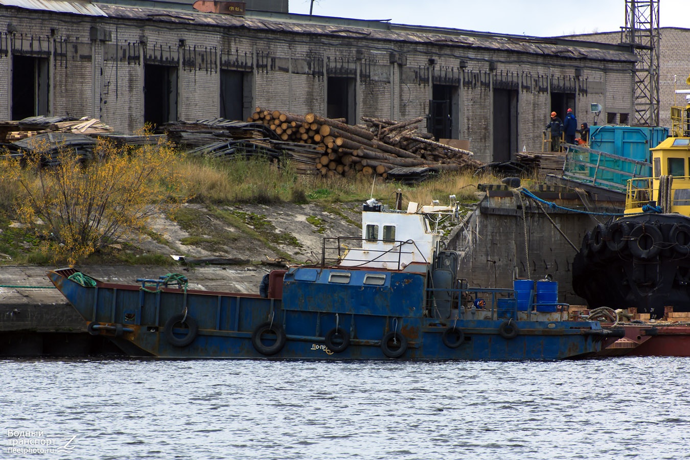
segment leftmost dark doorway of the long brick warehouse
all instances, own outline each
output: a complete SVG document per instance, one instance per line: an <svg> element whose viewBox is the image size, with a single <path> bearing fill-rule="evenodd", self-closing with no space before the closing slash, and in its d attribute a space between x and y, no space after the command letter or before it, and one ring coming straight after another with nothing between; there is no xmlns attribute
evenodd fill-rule
<svg viewBox="0 0 690 460"><path fill-rule="evenodd" d="M12 119L48 115L48 58L12 56Z"/></svg>

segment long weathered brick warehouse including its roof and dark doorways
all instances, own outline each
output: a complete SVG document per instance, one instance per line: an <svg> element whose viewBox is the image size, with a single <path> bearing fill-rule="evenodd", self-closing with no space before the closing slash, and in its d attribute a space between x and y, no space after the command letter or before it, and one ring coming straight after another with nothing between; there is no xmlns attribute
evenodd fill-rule
<svg viewBox="0 0 690 460"><path fill-rule="evenodd" d="M635 55L615 43L310 17L286 0L248 1L244 15L124 3L0 0L0 119L88 116L133 132L255 106L348 123L426 116L437 138L504 161L542 149L551 110L633 113Z"/></svg>

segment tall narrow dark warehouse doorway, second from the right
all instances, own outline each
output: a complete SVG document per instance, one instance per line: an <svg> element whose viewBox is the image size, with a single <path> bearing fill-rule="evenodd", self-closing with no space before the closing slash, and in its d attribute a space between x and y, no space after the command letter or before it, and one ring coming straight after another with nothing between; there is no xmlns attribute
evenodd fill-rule
<svg viewBox="0 0 690 460"><path fill-rule="evenodd" d="M510 161L517 152L517 91L493 90L493 161Z"/></svg>

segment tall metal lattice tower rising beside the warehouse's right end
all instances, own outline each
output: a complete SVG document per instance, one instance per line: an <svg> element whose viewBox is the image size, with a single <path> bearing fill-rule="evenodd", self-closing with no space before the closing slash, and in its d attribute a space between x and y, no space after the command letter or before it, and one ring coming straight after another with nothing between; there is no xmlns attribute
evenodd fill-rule
<svg viewBox="0 0 690 460"><path fill-rule="evenodd" d="M635 124L659 124L659 0L626 0L622 42L638 57L635 63Z"/></svg>

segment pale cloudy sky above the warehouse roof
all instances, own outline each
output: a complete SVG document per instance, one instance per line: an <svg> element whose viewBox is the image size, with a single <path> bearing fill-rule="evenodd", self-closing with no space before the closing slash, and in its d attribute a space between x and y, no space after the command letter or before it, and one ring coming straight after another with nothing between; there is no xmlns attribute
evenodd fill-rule
<svg viewBox="0 0 690 460"><path fill-rule="evenodd" d="M315 16L390 19L414 26L502 34L556 35L619 31L625 0L313 0ZM311 0L289 0L290 13L309 14ZM690 0L660 0L661 27L690 28Z"/></svg>

